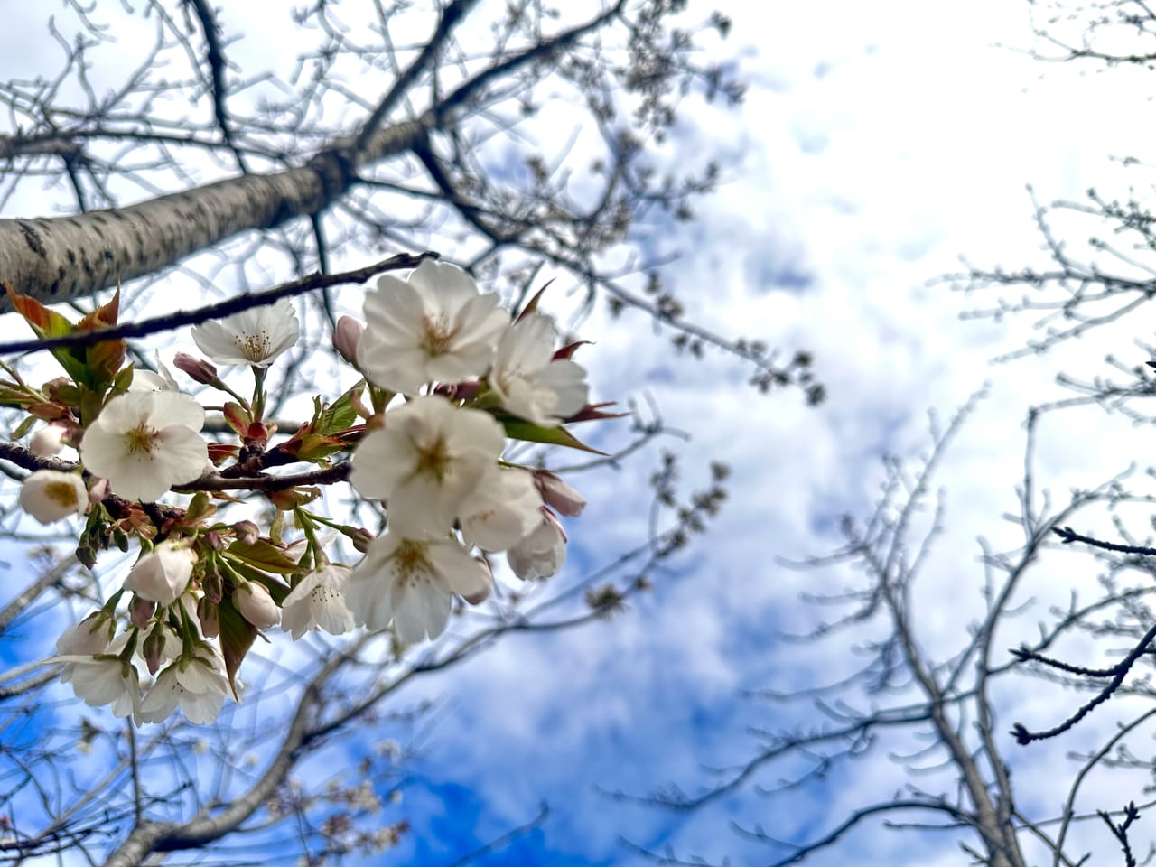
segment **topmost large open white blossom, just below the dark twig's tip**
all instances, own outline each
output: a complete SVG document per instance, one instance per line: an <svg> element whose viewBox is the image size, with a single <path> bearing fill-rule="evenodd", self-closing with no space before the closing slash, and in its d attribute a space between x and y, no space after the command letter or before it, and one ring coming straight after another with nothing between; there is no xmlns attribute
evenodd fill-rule
<svg viewBox="0 0 1156 867"><path fill-rule="evenodd" d="M415 394L430 381L460 383L486 373L510 314L496 294L480 295L461 268L432 259L403 281L378 277L365 294L365 333L357 362L376 385Z"/></svg>

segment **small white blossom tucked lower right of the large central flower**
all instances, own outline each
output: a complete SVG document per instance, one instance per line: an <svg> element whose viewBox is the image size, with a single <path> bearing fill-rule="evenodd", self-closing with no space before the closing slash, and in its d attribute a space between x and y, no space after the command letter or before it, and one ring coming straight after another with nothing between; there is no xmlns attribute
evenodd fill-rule
<svg viewBox="0 0 1156 867"><path fill-rule="evenodd" d="M501 551L529 535L542 521L542 497L525 469L489 470L458 509L467 544Z"/></svg>

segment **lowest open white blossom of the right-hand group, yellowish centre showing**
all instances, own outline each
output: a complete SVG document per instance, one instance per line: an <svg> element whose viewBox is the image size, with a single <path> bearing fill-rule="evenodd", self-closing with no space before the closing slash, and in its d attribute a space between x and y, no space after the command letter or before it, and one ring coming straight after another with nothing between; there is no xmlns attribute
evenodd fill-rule
<svg viewBox="0 0 1156 867"><path fill-rule="evenodd" d="M454 593L484 599L490 583L489 569L450 538L405 539L388 532L354 566L346 599L358 624L385 629L393 623L402 642L415 644L445 631Z"/></svg>

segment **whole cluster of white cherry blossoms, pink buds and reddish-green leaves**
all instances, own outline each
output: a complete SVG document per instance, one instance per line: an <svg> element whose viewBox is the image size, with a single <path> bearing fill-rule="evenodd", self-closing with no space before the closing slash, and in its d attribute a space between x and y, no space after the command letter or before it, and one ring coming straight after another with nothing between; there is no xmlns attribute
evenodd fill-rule
<svg viewBox="0 0 1156 867"><path fill-rule="evenodd" d="M42 335L116 324L118 299L73 326L36 302L13 301ZM391 629L401 644L446 629L454 596L476 605L492 588L489 555L505 553L520 579L553 576L565 560L560 516L585 501L558 476L503 460L509 439L584 447L564 423L612 417L588 403L585 371L558 346L536 298L519 316L482 294L464 271L425 259L408 280L386 274L365 295L364 321L338 323L334 346L363 377L336 400L318 398L311 421L275 442L264 420L269 365L296 344L288 301L193 328L206 358L175 366L222 392L218 409L238 442L206 439L205 408L157 372L126 366L121 341L54 351L71 379L0 381L0 403L29 413L20 436L40 467L21 506L47 524L87 514L77 556L90 568L111 544L141 553L109 601L62 635L61 680L91 705L138 722L179 707L194 722L236 698L237 668L259 631L280 625L298 639L319 629ZM247 365L245 399L216 365ZM368 403L365 393L368 392ZM31 431L35 421L45 427ZM66 446L80 460L58 458ZM344 458L348 457L348 460ZM313 464L294 476L273 467ZM319 486L348 477L385 507L373 536L319 513ZM260 490L276 517L225 523L225 491ZM157 501L191 494L185 506ZM283 539L287 519L301 538ZM320 531L336 531L364 556L333 562ZM124 605L121 605L124 603ZM142 676L139 666L148 670Z"/></svg>

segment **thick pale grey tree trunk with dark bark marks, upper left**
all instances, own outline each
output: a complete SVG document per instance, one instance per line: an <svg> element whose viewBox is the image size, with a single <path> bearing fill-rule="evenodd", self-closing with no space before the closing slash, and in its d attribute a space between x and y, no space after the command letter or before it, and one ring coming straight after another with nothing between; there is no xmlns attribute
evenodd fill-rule
<svg viewBox="0 0 1156 867"><path fill-rule="evenodd" d="M407 121L380 129L356 151L342 140L297 169L111 210L0 220L0 280L51 304L155 274L242 232L318 213L356 181L357 168L408 150L422 134L421 121ZM10 309L7 296L0 298L0 311Z"/></svg>

